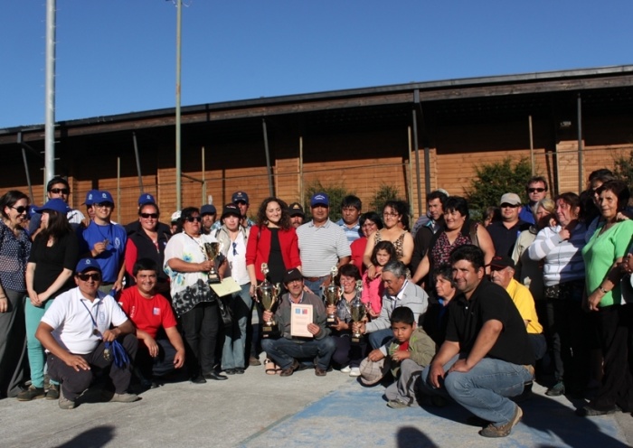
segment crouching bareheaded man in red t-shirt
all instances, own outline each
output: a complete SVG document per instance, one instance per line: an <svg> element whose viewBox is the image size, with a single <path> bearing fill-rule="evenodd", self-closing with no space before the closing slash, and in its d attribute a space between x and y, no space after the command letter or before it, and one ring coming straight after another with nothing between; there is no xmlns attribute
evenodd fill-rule
<svg viewBox="0 0 633 448"><path fill-rule="evenodd" d="M118 299L123 311L137 327L138 353L135 373L143 387L157 387L154 377L162 377L184 364L184 343L176 328L171 304L156 293L156 263L139 259L132 274L136 285L123 291ZM158 337L165 330L165 337Z"/></svg>

